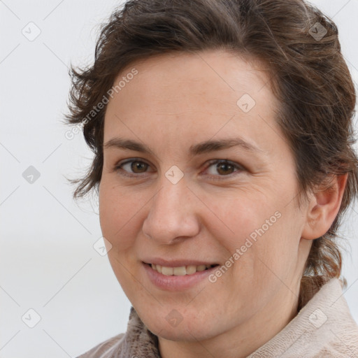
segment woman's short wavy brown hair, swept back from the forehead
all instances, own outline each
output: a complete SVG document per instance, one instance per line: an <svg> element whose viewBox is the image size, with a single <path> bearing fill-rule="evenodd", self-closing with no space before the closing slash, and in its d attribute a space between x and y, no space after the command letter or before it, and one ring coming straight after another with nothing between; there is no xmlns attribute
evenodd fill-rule
<svg viewBox="0 0 358 358"><path fill-rule="evenodd" d="M357 196L358 182L352 149L356 94L338 30L303 0L131 0L117 8L102 25L93 66L78 71L71 66L66 123L83 125L85 141L94 152L85 178L70 180L79 182L73 197L92 189L98 194L106 106L84 119L120 71L154 55L207 49L232 50L268 67L280 103L277 121L294 153L299 202L301 194L306 196L330 175L348 173L336 219L327 234L313 241L301 280L300 309L324 282L341 275L336 231Z"/></svg>

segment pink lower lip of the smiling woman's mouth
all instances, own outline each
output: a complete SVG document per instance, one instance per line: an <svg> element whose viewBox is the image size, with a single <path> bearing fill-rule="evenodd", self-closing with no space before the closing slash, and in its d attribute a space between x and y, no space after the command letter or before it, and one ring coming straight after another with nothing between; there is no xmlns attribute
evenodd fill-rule
<svg viewBox="0 0 358 358"><path fill-rule="evenodd" d="M163 275L162 273L154 270L149 264L145 264L144 262L142 262L142 264L150 282L160 289L166 289L167 291L180 291L194 287L199 282L208 278L210 273L213 273L213 271L215 271L218 267L214 266L204 271L196 271L196 273L192 273L191 275L176 276Z"/></svg>

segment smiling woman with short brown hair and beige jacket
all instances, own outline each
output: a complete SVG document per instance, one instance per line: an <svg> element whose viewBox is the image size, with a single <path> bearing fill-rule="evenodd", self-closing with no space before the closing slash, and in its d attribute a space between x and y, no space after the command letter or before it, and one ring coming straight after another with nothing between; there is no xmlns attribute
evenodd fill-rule
<svg viewBox="0 0 358 358"><path fill-rule="evenodd" d="M335 241L355 87L331 20L301 0L128 1L72 78L94 151L74 196L99 194L133 306L80 357L358 357Z"/></svg>

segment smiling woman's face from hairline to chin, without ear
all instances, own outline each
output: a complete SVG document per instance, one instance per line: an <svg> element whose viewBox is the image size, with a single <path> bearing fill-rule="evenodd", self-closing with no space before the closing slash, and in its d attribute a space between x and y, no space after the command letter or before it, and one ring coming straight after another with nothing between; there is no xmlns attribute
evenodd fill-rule
<svg viewBox="0 0 358 358"><path fill-rule="evenodd" d="M310 245L266 73L205 51L136 62L120 80L105 117L100 221L145 325L202 341L294 314Z"/></svg>

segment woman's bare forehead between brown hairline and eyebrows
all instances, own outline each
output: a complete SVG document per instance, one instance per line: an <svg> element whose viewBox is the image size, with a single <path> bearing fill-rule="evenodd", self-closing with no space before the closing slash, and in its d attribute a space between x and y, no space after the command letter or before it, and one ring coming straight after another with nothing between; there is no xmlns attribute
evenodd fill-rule
<svg viewBox="0 0 358 358"><path fill-rule="evenodd" d="M277 106L264 66L232 52L150 57L127 66L114 85L133 70L136 75L128 76L108 103L105 141L116 131L133 137L133 130L141 138L162 131L170 140L185 130L200 139L238 129L252 136L263 121L272 120Z"/></svg>

